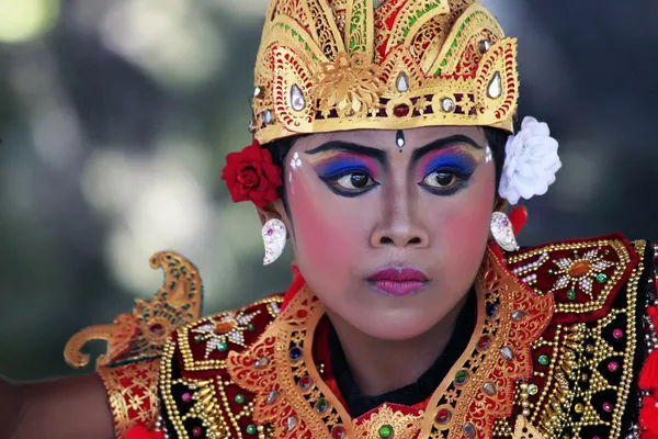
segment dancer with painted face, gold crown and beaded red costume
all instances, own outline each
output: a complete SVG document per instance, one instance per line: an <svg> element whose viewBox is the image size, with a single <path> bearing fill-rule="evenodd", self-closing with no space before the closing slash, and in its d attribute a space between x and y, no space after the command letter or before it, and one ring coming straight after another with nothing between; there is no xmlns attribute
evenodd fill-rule
<svg viewBox="0 0 658 439"><path fill-rule="evenodd" d="M518 247L508 204L560 167L545 124L512 134L518 93L515 41L473 0L272 1L254 143L223 179L265 264L290 240L290 290L200 318L195 268L156 255L156 297L67 346L83 365L107 340L103 385L4 384L2 434L656 437L655 249Z"/></svg>

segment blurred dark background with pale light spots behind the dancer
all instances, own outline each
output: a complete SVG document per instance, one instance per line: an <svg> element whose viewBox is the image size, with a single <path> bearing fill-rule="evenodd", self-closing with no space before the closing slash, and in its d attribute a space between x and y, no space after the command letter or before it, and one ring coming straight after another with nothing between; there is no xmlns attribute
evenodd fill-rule
<svg viewBox="0 0 658 439"><path fill-rule="evenodd" d="M484 3L520 38L520 115L549 122L564 168L523 245L658 237L658 2ZM200 268L205 313L285 290L252 206L219 179L250 143L266 0L0 0L0 373L72 373L63 348ZM320 232L321 233L321 232Z"/></svg>

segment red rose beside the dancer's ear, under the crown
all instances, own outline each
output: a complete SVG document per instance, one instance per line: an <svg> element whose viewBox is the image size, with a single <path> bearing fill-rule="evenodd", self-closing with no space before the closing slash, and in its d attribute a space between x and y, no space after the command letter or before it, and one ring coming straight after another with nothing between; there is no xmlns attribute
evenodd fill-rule
<svg viewBox="0 0 658 439"><path fill-rule="evenodd" d="M222 180L226 181L230 198L235 203L251 201L258 207L276 201L276 188L283 184L281 168L272 162L272 155L261 148L258 140L226 156Z"/></svg>

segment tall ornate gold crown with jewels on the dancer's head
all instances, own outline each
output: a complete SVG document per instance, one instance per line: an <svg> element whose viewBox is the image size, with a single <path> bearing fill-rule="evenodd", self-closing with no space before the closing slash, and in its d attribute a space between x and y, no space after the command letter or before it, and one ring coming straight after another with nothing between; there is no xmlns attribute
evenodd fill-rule
<svg viewBox="0 0 658 439"><path fill-rule="evenodd" d="M475 0L271 0L251 131L480 125L512 132L517 40Z"/></svg>

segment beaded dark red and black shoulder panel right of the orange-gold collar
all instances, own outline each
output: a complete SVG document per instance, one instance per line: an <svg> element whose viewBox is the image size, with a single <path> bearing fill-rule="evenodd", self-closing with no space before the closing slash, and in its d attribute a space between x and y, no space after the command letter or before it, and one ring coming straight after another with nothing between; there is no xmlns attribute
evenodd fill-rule
<svg viewBox="0 0 658 439"><path fill-rule="evenodd" d="M622 236L553 244L508 258L512 271L538 293L553 291L556 314L533 342L533 376L518 385L514 414L523 414L545 437L623 437L622 417L631 406L638 329L636 314L646 244ZM600 255L591 294L567 294L555 288L587 255ZM606 262L606 263L603 263ZM577 270L574 270L577 271ZM577 271L580 274L585 270ZM581 274L582 275L582 274ZM497 424L495 437L507 437L511 420Z"/></svg>

